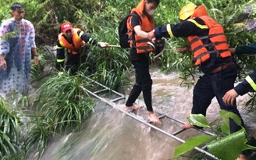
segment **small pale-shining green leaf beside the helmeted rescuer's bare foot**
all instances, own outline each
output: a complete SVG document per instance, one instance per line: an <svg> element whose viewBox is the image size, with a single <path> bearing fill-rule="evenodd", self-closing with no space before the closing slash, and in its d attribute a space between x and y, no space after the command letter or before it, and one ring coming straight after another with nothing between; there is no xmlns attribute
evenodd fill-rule
<svg viewBox="0 0 256 160"><path fill-rule="evenodd" d="M207 119L202 114L190 114L190 116L187 117L187 120L190 122L190 124L193 124L195 126L210 128Z"/></svg>

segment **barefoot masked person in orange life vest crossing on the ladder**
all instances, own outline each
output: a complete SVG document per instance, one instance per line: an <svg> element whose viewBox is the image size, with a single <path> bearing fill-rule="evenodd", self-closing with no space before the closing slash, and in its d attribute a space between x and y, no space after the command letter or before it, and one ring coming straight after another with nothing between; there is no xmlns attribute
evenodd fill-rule
<svg viewBox="0 0 256 160"><path fill-rule="evenodd" d="M128 36L130 37L130 61L135 68L136 84L130 91L126 101L126 109L137 110L140 107L133 105L141 91L148 110L148 119L151 123L161 123L152 108L151 87L152 80L149 73L149 56L154 50L148 45L148 32L155 28L153 14L158 7L159 0L141 0L131 13L138 16L130 16L127 19Z"/></svg>

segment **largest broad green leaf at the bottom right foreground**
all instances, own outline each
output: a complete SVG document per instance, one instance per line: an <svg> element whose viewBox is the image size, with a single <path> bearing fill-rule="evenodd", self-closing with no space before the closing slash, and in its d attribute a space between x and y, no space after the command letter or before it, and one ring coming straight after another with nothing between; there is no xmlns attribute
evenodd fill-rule
<svg viewBox="0 0 256 160"><path fill-rule="evenodd" d="M247 148L244 129L207 144L208 151L222 160L236 159Z"/></svg>

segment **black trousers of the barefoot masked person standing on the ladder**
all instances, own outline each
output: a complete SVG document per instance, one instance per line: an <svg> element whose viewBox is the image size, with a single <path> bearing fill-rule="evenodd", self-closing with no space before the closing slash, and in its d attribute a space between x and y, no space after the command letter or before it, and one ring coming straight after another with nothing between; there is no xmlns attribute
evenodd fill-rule
<svg viewBox="0 0 256 160"><path fill-rule="evenodd" d="M134 56L135 58L133 57L134 59L132 58L131 62L135 68L136 83L133 85L132 91L130 91L129 98L126 101L126 106L132 106L142 91L147 110L151 112L153 111L151 95L152 80L149 73L148 55L137 54Z"/></svg>

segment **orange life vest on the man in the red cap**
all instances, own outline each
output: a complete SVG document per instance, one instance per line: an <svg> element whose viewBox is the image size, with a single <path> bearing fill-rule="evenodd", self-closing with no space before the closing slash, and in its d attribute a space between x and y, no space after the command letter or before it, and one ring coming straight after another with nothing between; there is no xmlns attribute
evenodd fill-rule
<svg viewBox="0 0 256 160"><path fill-rule="evenodd" d="M77 32L80 31L79 28L73 28L72 30L72 44L66 41L64 34L59 34L59 44L63 48L68 48L69 53L76 55L84 50L85 42L80 38Z"/></svg>

